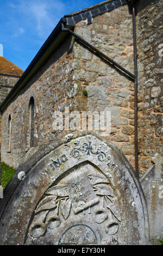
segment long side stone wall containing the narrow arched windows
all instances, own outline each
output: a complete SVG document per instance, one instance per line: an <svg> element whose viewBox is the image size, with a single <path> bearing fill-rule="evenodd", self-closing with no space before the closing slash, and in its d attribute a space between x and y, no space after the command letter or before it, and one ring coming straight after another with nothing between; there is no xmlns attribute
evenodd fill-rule
<svg viewBox="0 0 163 256"><path fill-rule="evenodd" d="M59 111L71 100L67 100L67 91L71 83L72 59L69 38L49 58L26 87L12 100L2 114L1 159L9 166L17 167L31 151L41 147L54 137L52 130L53 112ZM29 101L34 98L34 148L29 147ZM9 150L9 125L11 115L11 149ZM30 150L30 151L29 151ZM26 158L25 158L26 159Z"/></svg>

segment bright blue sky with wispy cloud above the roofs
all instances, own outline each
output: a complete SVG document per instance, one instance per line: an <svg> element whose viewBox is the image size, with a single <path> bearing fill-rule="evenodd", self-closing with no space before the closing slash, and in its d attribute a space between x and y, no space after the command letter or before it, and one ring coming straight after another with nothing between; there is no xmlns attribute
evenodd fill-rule
<svg viewBox="0 0 163 256"><path fill-rule="evenodd" d="M26 70L61 17L103 0L0 0L3 56Z"/></svg>

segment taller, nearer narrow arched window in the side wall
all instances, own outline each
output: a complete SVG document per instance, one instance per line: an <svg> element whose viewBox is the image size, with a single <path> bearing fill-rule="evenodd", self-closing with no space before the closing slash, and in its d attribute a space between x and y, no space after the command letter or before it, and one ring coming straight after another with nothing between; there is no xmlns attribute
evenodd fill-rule
<svg viewBox="0 0 163 256"><path fill-rule="evenodd" d="M29 101L29 147L34 147L34 98Z"/></svg>

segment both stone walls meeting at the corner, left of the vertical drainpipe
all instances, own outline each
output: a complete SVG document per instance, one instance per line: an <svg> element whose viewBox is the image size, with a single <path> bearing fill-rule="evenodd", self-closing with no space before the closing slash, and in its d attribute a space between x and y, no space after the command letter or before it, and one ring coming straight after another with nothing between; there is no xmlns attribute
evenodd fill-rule
<svg viewBox="0 0 163 256"><path fill-rule="evenodd" d="M134 72L132 19L128 7L79 22L76 32L124 68ZM72 47L73 46L73 47ZM71 52L72 47L72 52ZM87 91L87 97L83 95ZM3 113L2 160L17 167L29 148L29 100L35 101L34 148L52 141L53 113L111 111L110 139L134 166L134 84L79 42L66 41ZM11 150L8 117L11 115ZM33 149L30 149L30 151ZM9 152L9 153L7 153Z"/></svg>

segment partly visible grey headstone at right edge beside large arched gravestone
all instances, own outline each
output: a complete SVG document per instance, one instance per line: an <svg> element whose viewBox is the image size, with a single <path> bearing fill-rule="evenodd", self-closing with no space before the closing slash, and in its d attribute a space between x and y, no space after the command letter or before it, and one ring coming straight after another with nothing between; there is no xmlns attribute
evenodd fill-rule
<svg viewBox="0 0 163 256"><path fill-rule="evenodd" d="M163 159L155 154L152 162L140 181L148 207L151 242L156 245L163 239Z"/></svg>

